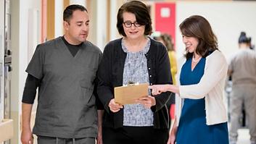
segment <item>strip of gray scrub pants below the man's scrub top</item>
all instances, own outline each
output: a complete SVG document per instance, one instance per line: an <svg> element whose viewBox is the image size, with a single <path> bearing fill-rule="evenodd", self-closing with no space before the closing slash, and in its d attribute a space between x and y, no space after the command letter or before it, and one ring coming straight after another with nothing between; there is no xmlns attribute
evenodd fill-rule
<svg viewBox="0 0 256 144"><path fill-rule="evenodd" d="M95 144L94 137L85 138L58 138L38 135L38 144Z"/></svg>

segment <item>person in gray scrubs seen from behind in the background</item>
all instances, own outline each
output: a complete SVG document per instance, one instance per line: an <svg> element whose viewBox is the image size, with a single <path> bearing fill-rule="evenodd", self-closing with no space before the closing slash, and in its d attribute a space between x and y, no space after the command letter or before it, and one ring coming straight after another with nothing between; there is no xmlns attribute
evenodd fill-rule
<svg viewBox="0 0 256 144"><path fill-rule="evenodd" d="M256 143L256 52L249 48L250 39L241 32L239 51L231 57L228 75L232 77L230 140L238 137L239 117L244 104L251 144Z"/></svg>

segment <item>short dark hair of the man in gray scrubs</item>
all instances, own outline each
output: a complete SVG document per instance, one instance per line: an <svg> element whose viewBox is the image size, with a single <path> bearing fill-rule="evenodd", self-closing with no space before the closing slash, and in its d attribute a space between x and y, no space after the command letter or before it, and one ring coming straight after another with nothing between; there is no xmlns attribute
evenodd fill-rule
<svg viewBox="0 0 256 144"><path fill-rule="evenodd" d="M86 7L83 7L81 5L78 5L78 4L72 4L70 6L67 6L66 9L64 10L63 12L63 20L65 22L69 22L70 19L72 18L72 14L75 10L80 10L80 11L86 11L87 12L87 9Z"/></svg>

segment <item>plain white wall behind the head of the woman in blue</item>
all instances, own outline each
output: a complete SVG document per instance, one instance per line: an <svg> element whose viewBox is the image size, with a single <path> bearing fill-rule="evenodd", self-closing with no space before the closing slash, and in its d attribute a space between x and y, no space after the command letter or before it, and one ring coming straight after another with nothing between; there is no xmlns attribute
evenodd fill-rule
<svg viewBox="0 0 256 144"><path fill-rule="evenodd" d="M218 37L220 51L228 58L238 48L240 32L256 43L256 1L177 1L176 48L181 56L184 45L178 25L193 14L205 17Z"/></svg>

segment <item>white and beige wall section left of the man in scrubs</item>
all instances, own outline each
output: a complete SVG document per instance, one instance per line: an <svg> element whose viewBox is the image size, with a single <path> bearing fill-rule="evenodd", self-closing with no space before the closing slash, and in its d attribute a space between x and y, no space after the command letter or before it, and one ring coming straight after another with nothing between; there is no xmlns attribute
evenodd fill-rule
<svg viewBox="0 0 256 144"><path fill-rule="evenodd" d="M11 3L11 119L14 119L15 133L11 143L20 143L21 99L27 73L25 68L32 56L35 43L41 35L41 1L13 0ZM31 14L31 12L33 14ZM33 23L31 23L33 22ZM36 38L30 39L31 35Z"/></svg>

